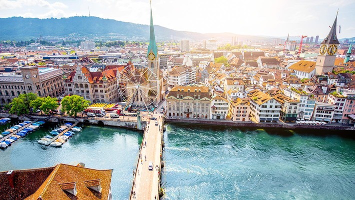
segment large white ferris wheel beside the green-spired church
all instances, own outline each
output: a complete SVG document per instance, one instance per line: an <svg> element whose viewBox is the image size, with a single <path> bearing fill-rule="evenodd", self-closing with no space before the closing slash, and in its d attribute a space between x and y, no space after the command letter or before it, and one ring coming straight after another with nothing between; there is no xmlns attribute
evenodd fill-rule
<svg viewBox="0 0 355 200"><path fill-rule="evenodd" d="M147 109L158 97L159 80L155 72L143 64L130 64L119 72L118 92L126 107Z"/></svg>

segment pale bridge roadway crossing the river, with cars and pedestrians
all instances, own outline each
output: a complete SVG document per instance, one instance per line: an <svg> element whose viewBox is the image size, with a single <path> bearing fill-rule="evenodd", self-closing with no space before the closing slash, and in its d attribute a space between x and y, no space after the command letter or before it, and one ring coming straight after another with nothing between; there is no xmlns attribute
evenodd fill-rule
<svg viewBox="0 0 355 200"><path fill-rule="evenodd" d="M153 116L157 120L148 119L144 130L129 199L159 199L163 117L158 113ZM158 125L154 124L156 121ZM153 169L148 169L149 162L153 162Z"/></svg>

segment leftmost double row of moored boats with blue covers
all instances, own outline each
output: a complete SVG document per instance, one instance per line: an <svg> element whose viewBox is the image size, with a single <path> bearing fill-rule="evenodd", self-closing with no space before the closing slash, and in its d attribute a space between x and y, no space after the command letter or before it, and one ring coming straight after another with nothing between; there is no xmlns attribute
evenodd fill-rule
<svg viewBox="0 0 355 200"><path fill-rule="evenodd" d="M44 123L44 121L36 121L35 123L32 123L32 121L24 120L23 122L17 125L11 126L10 128L1 132L0 139L2 137L6 137L6 135L10 133L13 134L0 142L0 148L6 148L7 146L10 146L11 143L21 137L25 137L27 134L33 132L35 129L37 129L39 126L42 126Z"/></svg>

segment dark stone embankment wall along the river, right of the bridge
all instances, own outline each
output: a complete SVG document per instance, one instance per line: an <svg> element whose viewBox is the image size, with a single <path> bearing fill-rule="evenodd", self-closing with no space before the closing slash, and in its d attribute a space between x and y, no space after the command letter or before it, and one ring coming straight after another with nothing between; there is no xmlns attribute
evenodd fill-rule
<svg viewBox="0 0 355 200"><path fill-rule="evenodd" d="M166 118L166 122L172 123L192 123L192 124L206 124L219 125L231 127L251 127L251 128L287 128L287 129L326 129L326 130L355 130L353 126L345 126L339 123L331 123L326 125L310 125L310 124L296 124L296 123L255 123L251 121L230 121L223 119L179 119Z"/></svg>

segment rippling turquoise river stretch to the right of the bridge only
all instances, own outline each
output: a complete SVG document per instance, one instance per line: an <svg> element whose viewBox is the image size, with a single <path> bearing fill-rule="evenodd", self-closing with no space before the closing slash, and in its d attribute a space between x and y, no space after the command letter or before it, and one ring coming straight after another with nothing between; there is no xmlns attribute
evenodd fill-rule
<svg viewBox="0 0 355 200"><path fill-rule="evenodd" d="M165 199L355 199L355 141L168 124Z"/></svg>

